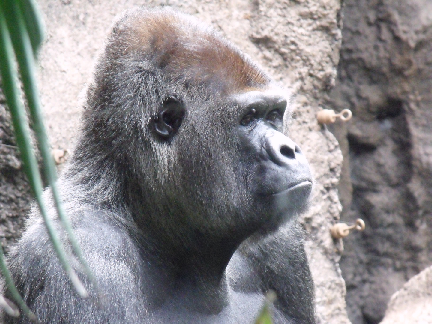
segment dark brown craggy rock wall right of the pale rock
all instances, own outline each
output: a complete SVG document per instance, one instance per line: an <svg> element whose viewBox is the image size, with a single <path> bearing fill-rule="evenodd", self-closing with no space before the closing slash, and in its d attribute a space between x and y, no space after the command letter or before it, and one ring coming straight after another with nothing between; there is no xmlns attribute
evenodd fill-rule
<svg viewBox="0 0 432 324"><path fill-rule="evenodd" d="M343 21L329 102L354 117L332 130L344 154L342 219L366 229L344 239L340 267L350 320L374 324L432 264L432 2L346 0Z"/></svg>

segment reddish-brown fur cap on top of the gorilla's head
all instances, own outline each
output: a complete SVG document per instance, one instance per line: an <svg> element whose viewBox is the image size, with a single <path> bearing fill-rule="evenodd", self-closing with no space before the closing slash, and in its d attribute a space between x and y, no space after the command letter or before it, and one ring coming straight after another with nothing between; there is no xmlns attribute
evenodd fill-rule
<svg viewBox="0 0 432 324"><path fill-rule="evenodd" d="M111 41L124 55L142 55L185 83L211 85L224 95L263 89L270 78L213 28L165 8L128 12ZM121 50L121 48L118 48Z"/></svg>

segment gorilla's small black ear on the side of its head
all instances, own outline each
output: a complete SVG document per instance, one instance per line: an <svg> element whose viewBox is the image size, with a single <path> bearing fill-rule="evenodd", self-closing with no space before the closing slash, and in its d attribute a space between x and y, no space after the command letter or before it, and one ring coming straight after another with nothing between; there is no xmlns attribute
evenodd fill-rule
<svg viewBox="0 0 432 324"><path fill-rule="evenodd" d="M172 138L180 128L186 109L175 97L165 98L155 119L156 133L165 140Z"/></svg>

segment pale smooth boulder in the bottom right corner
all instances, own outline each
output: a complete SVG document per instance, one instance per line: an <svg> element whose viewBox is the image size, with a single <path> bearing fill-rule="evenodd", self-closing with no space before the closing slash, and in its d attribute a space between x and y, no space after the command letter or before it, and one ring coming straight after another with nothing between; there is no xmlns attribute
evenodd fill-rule
<svg viewBox="0 0 432 324"><path fill-rule="evenodd" d="M426 268L391 296L381 324L432 323L432 267Z"/></svg>

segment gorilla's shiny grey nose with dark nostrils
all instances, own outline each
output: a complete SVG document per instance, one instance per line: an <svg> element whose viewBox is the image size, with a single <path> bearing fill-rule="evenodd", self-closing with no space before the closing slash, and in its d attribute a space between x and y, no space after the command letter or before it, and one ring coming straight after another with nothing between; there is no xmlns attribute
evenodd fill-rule
<svg viewBox="0 0 432 324"><path fill-rule="evenodd" d="M277 165L287 165L295 159L295 153L300 153L300 148L289 137L280 132L267 137L267 153L270 159Z"/></svg>

